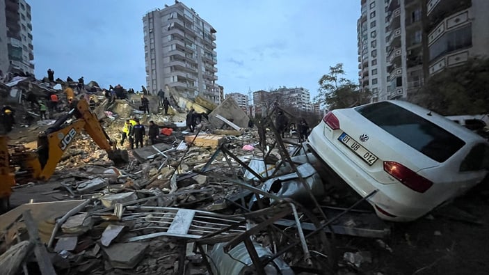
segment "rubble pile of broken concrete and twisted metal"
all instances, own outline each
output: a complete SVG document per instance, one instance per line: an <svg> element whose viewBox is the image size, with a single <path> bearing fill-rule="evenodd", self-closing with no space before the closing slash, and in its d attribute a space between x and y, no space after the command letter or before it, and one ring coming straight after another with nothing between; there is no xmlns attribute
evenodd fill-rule
<svg viewBox="0 0 489 275"><path fill-rule="evenodd" d="M46 192L52 201L0 217L0 270L383 274L376 267L392 253L390 225L358 208L368 196L345 196L298 136L282 139L270 120L248 128L233 102L215 107L167 92L175 104L171 116L141 113L136 95L110 104L97 95L95 112L111 139L118 141L125 119L134 116L172 134L131 150L123 166L80 134L47 181L56 183ZM194 133L179 113L189 107L209 112Z"/></svg>

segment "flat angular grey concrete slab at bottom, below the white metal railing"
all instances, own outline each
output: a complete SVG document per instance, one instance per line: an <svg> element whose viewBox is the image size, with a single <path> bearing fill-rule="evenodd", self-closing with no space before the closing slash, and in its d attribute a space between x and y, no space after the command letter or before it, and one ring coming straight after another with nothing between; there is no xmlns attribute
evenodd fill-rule
<svg viewBox="0 0 489 275"><path fill-rule="evenodd" d="M104 248L104 253L112 267L132 269L143 259L148 246L149 244L141 242L113 244Z"/></svg>

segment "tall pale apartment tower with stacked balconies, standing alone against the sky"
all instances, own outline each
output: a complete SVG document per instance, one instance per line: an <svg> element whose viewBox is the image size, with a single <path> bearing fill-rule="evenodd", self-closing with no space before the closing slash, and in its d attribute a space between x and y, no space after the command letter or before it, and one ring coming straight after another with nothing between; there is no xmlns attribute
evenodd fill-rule
<svg viewBox="0 0 489 275"><path fill-rule="evenodd" d="M186 97L201 95L220 103L216 30L193 8L175 1L143 17L147 91L166 85Z"/></svg>

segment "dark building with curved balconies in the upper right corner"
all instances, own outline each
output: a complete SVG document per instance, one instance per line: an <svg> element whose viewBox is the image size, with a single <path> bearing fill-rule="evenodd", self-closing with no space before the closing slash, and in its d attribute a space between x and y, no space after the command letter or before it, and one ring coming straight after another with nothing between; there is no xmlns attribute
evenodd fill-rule
<svg viewBox="0 0 489 275"><path fill-rule="evenodd" d="M489 1L430 0L426 4L429 74L489 56Z"/></svg>

